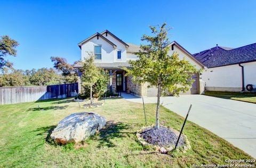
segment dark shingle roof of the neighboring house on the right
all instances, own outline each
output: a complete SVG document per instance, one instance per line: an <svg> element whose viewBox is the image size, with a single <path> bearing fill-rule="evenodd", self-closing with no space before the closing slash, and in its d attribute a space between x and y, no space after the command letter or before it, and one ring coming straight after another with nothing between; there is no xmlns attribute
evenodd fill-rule
<svg viewBox="0 0 256 168"><path fill-rule="evenodd" d="M238 48L213 47L193 54L207 68L256 61L256 43Z"/></svg>

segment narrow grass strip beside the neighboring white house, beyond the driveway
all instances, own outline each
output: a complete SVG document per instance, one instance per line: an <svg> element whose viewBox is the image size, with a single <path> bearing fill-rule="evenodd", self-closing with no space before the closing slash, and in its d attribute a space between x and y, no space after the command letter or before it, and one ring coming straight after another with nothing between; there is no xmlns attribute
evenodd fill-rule
<svg viewBox="0 0 256 168"><path fill-rule="evenodd" d="M239 100L242 102L256 103L256 93L246 93L246 92L239 93L239 92L228 92L228 91L205 91L205 95Z"/></svg>

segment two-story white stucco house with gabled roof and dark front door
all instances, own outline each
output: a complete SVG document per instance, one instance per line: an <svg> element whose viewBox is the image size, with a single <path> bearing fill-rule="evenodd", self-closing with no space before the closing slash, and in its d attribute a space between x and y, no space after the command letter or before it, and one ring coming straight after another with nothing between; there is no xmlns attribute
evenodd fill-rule
<svg viewBox="0 0 256 168"><path fill-rule="evenodd" d="M125 71L122 67L129 68L129 60L137 60L138 57L134 55L134 52L139 52L140 46L125 43L113 33L105 30L101 33L95 33L91 37L83 40L78 44L81 48L81 60L84 61L89 56L88 52L92 52L95 55L95 65L99 68L103 68L109 72L109 90L114 93L126 92L132 93L138 96L156 96L156 88L147 88L147 85L138 85L132 82L132 77L125 77ZM197 69L204 67L202 63L197 61L193 55L191 55L185 48L180 46L177 42L171 43L170 55L173 52L178 52L179 57L182 59L185 57L191 64L195 65ZM74 68L82 68L82 63L77 63ZM186 94L200 94L204 86L199 82L199 74L193 76L195 82L193 87ZM79 92L81 92L81 78L78 77ZM201 88L201 89L200 89Z"/></svg>

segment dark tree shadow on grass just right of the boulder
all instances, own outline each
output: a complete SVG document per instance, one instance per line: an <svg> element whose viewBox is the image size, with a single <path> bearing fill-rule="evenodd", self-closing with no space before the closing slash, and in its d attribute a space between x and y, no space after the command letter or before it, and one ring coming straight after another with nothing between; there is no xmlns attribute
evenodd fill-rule
<svg viewBox="0 0 256 168"><path fill-rule="evenodd" d="M122 130L129 129L128 124L124 124L122 122L114 123L114 121L108 121L106 123L105 128L100 130L99 138L96 136L92 137L94 140L99 141L98 148L101 148L103 146L106 147L115 147L116 145L111 141L115 138L124 138L126 136L133 135L135 136L136 132L123 132Z"/></svg>

